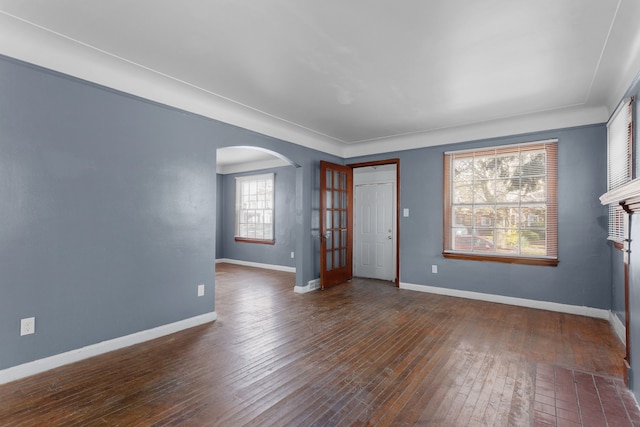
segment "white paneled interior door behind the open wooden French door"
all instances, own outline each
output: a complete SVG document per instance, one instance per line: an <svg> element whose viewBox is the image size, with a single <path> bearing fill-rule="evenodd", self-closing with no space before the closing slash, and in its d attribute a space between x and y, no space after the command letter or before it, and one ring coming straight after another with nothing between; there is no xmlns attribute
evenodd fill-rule
<svg viewBox="0 0 640 427"><path fill-rule="evenodd" d="M394 184L355 188L354 275L395 280L396 233Z"/></svg>

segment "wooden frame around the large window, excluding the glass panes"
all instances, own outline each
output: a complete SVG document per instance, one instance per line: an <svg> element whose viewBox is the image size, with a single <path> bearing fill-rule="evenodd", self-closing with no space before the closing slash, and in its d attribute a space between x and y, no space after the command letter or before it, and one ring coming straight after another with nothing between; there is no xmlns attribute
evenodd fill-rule
<svg viewBox="0 0 640 427"><path fill-rule="evenodd" d="M526 147L526 148L525 148ZM453 174L452 163L453 160L464 157L473 157L478 154L486 155L493 151L493 155L498 157L499 155L505 155L509 153L519 153L522 148L526 151L544 149L546 151L545 158L545 180L546 185L546 200L544 202L546 209L545 220L545 232L546 241L548 243L547 255L506 255L502 253L478 253L471 251L461 251L453 249L453 232L454 227L452 225L453 220L453 208L454 203L452 200L453 193ZM445 152L443 156L444 167L444 197L443 197L443 251L442 255L445 258L463 259L463 260L476 260L476 261L492 261L511 264L527 264L527 265L541 265L541 266L557 266L558 265L558 140L548 139L542 141L533 141L519 144L508 144L494 147L479 147L470 150L457 150ZM499 206L497 202L493 202L494 206ZM472 206L479 203L471 203ZM465 203L469 205L469 203ZM481 205L481 203L480 203ZM494 230L497 227L493 227ZM472 238L475 238L475 234L471 234ZM550 252L549 252L550 251Z"/></svg>

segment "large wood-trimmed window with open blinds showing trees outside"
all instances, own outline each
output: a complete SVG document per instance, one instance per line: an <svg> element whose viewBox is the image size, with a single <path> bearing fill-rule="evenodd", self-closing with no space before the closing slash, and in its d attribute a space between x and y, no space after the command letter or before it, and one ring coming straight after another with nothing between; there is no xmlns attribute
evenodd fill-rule
<svg viewBox="0 0 640 427"><path fill-rule="evenodd" d="M444 155L444 256L557 265L557 140Z"/></svg>

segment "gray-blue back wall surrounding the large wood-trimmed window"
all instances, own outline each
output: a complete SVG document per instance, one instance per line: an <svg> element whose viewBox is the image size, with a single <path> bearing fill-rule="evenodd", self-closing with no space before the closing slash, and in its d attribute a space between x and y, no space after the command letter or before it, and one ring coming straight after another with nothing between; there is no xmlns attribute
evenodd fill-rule
<svg viewBox="0 0 640 427"><path fill-rule="evenodd" d="M558 138L557 267L442 257L443 153ZM400 281L602 309L611 307L611 256L605 207L606 132L586 126L349 159L400 158ZM431 273L431 265L438 273Z"/></svg>

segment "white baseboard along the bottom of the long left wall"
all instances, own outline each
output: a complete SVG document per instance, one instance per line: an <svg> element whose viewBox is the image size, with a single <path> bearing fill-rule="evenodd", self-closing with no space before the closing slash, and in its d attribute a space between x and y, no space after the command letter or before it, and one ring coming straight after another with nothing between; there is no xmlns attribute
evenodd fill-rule
<svg viewBox="0 0 640 427"><path fill-rule="evenodd" d="M123 337L114 338L108 341L99 342L86 347L67 351L65 353L56 354L54 356L45 357L44 359L34 360L22 365L13 366L11 368L0 370L0 384L6 384L11 381L39 374L50 369L58 368L69 363L78 362L110 351L129 347L145 341L160 338L174 332L192 328L194 326L213 322L217 318L215 311L202 314L200 316L191 317L189 319L180 320L179 322L170 323L168 325L158 326L157 328L148 329L146 331L136 332Z"/></svg>

